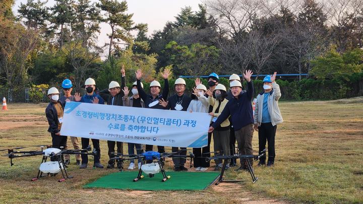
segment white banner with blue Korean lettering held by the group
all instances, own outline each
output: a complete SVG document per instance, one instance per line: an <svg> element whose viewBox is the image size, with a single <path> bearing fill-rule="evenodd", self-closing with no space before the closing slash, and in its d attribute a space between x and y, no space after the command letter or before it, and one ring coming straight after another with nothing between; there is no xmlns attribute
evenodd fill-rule
<svg viewBox="0 0 363 204"><path fill-rule="evenodd" d="M67 102L61 135L168 147L205 147L208 113Z"/></svg>

